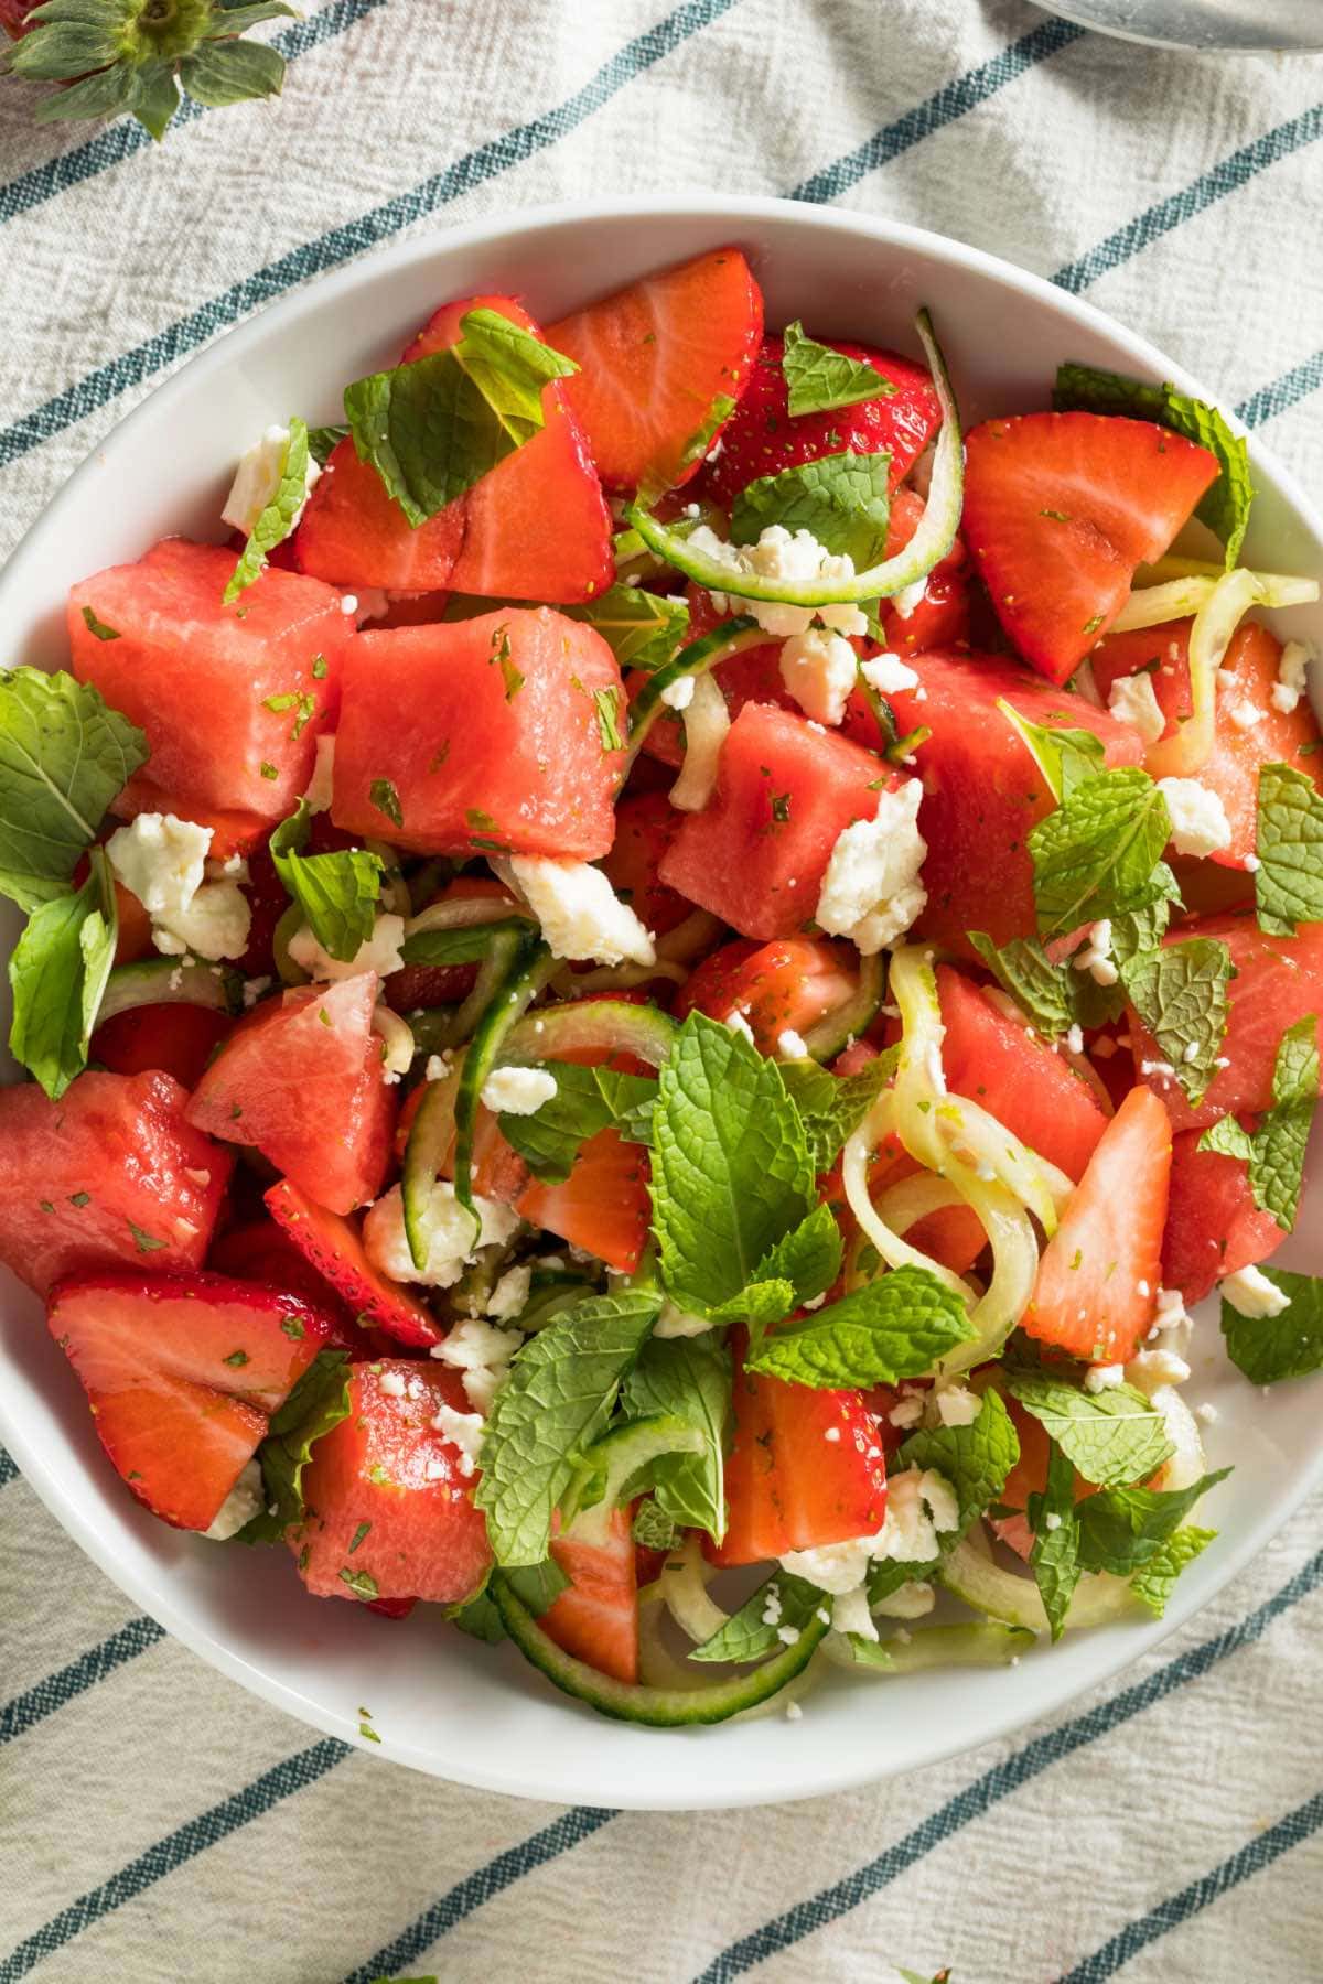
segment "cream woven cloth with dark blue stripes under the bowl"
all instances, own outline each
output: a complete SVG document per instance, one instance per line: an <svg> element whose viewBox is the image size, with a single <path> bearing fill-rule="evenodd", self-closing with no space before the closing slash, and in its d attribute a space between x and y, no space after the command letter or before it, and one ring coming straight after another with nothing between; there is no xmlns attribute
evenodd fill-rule
<svg viewBox="0 0 1323 1984"><path fill-rule="evenodd" d="M262 34L284 99L188 107L161 147L0 87L0 554L262 304L603 188L976 242L1323 480L1317 60L1160 54L1020 0L321 0ZM0 1984L1323 1978L1321 1520L1051 1722L833 1799L657 1817L319 1738L137 1615L0 1458ZM813 1742L811 1704L782 1740Z"/></svg>

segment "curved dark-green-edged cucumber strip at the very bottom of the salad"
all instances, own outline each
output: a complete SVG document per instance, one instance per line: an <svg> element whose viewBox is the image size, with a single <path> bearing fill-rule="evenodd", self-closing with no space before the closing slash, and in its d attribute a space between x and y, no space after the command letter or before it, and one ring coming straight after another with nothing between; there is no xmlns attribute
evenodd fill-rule
<svg viewBox="0 0 1323 1984"><path fill-rule="evenodd" d="M587 1661L577 1661L563 1653L549 1639L526 1605L514 1595L500 1571L494 1573L490 1593L502 1615L506 1633L516 1643L524 1659L553 1682L561 1694L573 1694L587 1702L597 1714L615 1722L641 1722L649 1728L690 1728L696 1724L728 1722L744 1708L756 1708L772 1694L778 1694L787 1680L801 1674L817 1651L817 1643L827 1633L821 1619L813 1619L793 1647L764 1661L748 1674L732 1680L718 1680L710 1688L645 1688L613 1680L599 1674Z"/></svg>

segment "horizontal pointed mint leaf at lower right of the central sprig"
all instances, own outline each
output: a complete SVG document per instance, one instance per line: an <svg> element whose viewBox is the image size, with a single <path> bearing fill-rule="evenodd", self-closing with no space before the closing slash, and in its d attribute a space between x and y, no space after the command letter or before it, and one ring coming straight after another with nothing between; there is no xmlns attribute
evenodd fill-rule
<svg viewBox="0 0 1323 1984"><path fill-rule="evenodd" d="M897 1268L827 1309L797 1317L746 1369L819 1389L922 1377L972 1335L964 1303L926 1268Z"/></svg>

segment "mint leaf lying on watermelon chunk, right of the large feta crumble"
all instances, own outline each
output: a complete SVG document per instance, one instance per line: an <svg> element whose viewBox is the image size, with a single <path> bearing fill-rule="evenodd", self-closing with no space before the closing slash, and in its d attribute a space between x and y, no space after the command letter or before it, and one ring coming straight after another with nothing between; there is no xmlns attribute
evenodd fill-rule
<svg viewBox="0 0 1323 1984"><path fill-rule="evenodd" d="M1043 936L1148 909L1176 883L1162 861L1172 835L1166 800L1137 766L1075 786L1029 833L1033 901Z"/></svg>

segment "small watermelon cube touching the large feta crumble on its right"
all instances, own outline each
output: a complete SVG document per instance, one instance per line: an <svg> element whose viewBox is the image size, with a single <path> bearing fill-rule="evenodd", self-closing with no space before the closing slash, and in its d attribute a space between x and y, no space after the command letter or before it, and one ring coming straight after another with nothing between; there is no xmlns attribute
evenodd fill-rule
<svg viewBox="0 0 1323 1984"><path fill-rule="evenodd" d="M817 909L837 835L902 784L849 738L748 702L722 744L716 792L676 833L661 879L742 936L791 936Z"/></svg>

